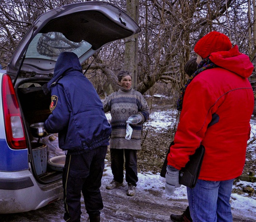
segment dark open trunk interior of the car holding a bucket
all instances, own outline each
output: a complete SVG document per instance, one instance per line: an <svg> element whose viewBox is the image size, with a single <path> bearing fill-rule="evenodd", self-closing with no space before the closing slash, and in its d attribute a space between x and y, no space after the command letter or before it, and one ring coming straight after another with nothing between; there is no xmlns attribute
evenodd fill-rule
<svg viewBox="0 0 256 222"><path fill-rule="evenodd" d="M52 157L65 155L65 152L58 147L57 134L47 134L43 138L37 138L32 135L30 130L30 125L44 123L51 113L49 109L51 94L45 95L42 89L43 84L48 81L49 79L27 79L15 86L24 116L25 128L28 132L31 168L35 178L42 183L62 178L62 168L58 164L62 164L63 161L57 165L49 164L48 161Z"/></svg>

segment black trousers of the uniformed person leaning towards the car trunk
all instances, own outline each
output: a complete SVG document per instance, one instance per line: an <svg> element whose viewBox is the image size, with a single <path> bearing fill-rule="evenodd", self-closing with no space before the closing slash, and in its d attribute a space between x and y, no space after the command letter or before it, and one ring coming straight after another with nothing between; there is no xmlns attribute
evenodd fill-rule
<svg viewBox="0 0 256 222"><path fill-rule="evenodd" d="M88 153L66 156L62 178L65 221L80 222L81 191L89 217L100 215L103 208L100 186L106 153L107 146L100 146Z"/></svg>

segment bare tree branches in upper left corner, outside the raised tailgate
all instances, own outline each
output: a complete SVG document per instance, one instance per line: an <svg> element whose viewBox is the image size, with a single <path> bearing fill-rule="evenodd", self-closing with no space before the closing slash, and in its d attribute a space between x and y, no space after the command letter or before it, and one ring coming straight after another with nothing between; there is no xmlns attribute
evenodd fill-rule
<svg viewBox="0 0 256 222"><path fill-rule="evenodd" d="M69 0L0 0L0 57L6 67L28 28L41 14Z"/></svg>

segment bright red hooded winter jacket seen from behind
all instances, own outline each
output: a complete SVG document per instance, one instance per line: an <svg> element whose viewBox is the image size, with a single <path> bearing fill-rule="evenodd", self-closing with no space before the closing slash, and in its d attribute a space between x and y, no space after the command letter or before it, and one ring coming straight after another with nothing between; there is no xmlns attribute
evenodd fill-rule
<svg viewBox="0 0 256 222"><path fill-rule="evenodd" d="M199 179L230 180L242 174L245 163L254 109L247 78L254 67L237 45L212 53L210 60L219 67L200 72L186 88L168 165L185 167L189 155L202 144L205 155Z"/></svg>

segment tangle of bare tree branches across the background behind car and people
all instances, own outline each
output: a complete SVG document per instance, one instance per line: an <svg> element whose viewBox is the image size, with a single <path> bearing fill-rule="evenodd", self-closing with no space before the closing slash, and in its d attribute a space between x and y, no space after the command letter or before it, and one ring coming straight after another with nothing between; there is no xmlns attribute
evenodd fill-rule
<svg viewBox="0 0 256 222"><path fill-rule="evenodd" d="M0 57L5 67L17 44L44 12L83 0L0 0ZM126 0L106 0L126 11ZM132 1L130 1L132 2ZM137 90L154 94L167 92L177 97L185 83L184 65L195 43L209 31L225 33L240 51L256 57L255 0L141 0L138 7ZM66 42L66 47L68 44ZM116 73L125 69L125 40L112 42L84 69L99 94L116 90ZM165 90L168 89L168 90Z"/></svg>

